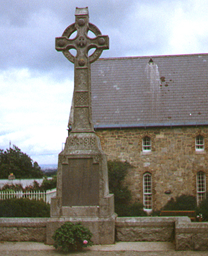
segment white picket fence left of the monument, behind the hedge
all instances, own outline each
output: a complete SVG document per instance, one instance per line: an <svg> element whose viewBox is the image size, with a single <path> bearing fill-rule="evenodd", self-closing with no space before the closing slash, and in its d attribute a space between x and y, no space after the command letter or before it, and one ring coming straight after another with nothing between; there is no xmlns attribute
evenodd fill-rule
<svg viewBox="0 0 208 256"><path fill-rule="evenodd" d="M0 191L0 200L6 200L10 198L29 198L51 203L51 198L56 195L56 189L47 191Z"/></svg>

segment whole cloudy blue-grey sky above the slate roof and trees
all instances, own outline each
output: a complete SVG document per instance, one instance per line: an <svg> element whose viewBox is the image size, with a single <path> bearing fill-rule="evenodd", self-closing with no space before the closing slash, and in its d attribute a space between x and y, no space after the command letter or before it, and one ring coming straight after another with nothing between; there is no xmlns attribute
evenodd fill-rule
<svg viewBox="0 0 208 256"><path fill-rule="evenodd" d="M57 164L67 138L73 64L55 50L76 7L110 38L102 58L208 52L207 0L0 0L0 149Z"/></svg>

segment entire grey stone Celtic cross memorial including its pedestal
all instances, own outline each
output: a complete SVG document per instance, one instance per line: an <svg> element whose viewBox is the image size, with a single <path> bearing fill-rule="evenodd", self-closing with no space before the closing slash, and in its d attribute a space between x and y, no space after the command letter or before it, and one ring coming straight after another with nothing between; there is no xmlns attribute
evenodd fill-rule
<svg viewBox="0 0 208 256"><path fill-rule="evenodd" d="M73 123L58 157L57 194L51 200L47 243L53 243L53 233L64 222L80 221L91 230L95 244L110 244L114 243L114 195L108 189L107 157L92 124L90 79L90 64L109 49L109 38L89 23L88 8L76 8L75 16L76 22L55 38L55 49L74 63ZM88 31L95 38L89 38ZM88 56L92 48L95 51ZM76 49L76 56L70 49Z"/></svg>

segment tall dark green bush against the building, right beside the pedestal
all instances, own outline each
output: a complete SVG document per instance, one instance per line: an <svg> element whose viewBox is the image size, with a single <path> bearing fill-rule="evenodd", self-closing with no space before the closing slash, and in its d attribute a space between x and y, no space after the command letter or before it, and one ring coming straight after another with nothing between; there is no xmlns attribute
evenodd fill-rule
<svg viewBox="0 0 208 256"><path fill-rule="evenodd" d="M132 166L128 162L108 161L108 179L110 193L114 193L115 212L119 216L146 216L141 203L132 205L131 191L128 186L123 185L125 175L128 173L128 168Z"/></svg>

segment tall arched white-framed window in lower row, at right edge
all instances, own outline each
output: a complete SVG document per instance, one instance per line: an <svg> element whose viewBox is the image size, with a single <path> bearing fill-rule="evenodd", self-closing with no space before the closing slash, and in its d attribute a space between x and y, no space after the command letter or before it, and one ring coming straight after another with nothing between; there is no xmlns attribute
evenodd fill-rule
<svg viewBox="0 0 208 256"><path fill-rule="evenodd" d="M196 191L197 204L199 205L202 200L206 199L206 175L203 172L196 175Z"/></svg>

